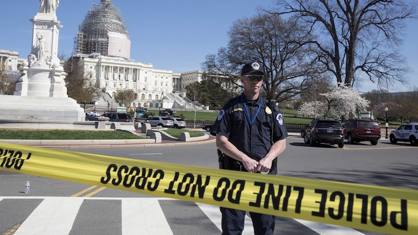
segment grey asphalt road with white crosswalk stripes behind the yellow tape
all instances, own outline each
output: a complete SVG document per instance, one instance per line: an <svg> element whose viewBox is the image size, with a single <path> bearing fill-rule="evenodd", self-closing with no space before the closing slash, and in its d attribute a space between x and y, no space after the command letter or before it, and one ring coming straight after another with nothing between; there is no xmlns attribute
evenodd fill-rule
<svg viewBox="0 0 418 235"><path fill-rule="evenodd" d="M346 144L344 148L328 144L311 147L301 137L289 136L287 148L279 157L278 170L285 176L418 190L417 150L418 147L411 147L408 143L391 144L387 139L381 139L375 146L361 142ZM218 167L214 143L72 151L176 163L186 167ZM27 180L31 182L30 194L24 194ZM59 205L68 205L65 213L60 212ZM129 214L136 206L141 206L145 215ZM71 208L74 210L72 214L68 212ZM219 209L216 207L1 171L0 215L0 234L10 231L14 235L25 234L36 228L44 229L43 226L47 228L43 231L53 231L51 223L42 223L54 218L62 223L62 231L68 227L65 234L74 235L135 234L129 231L133 225L141 227L141 234L220 234ZM54 216L49 218L48 215ZM244 234L252 234L248 230L251 224L246 228ZM315 226L286 218L277 219L275 233L330 234L336 229L341 234L377 234Z"/></svg>

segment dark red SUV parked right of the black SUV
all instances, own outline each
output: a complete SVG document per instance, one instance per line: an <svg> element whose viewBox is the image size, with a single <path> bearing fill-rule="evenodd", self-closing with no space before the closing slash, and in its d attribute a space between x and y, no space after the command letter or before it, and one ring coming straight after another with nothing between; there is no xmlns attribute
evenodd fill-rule
<svg viewBox="0 0 418 235"><path fill-rule="evenodd" d="M343 127L348 143L370 141L371 145L376 145L381 137L379 123L372 119L348 119Z"/></svg>

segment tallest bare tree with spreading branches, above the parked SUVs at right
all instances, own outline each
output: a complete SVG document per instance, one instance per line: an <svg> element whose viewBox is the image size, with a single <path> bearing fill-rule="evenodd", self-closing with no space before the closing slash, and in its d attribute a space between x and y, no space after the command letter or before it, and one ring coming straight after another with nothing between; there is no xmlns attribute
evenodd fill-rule
<svg viewBox="0 0 418 235"><path fill-rule="evenodd" d="M317 60L337 78L354 86L368 78L377 86L407 82L399 54L404 20L415 18L417 3L403 0L278 0L277 14L305 24L317 40Z"/></svg>

